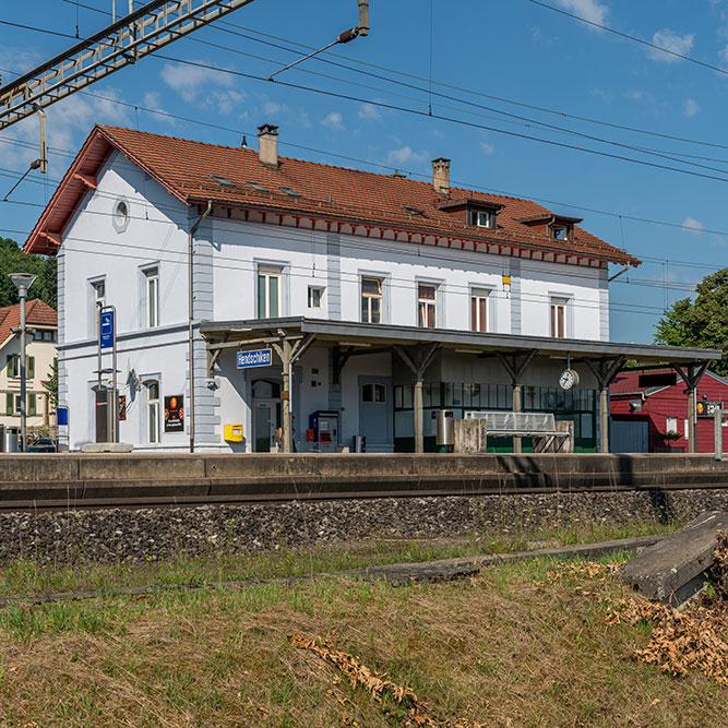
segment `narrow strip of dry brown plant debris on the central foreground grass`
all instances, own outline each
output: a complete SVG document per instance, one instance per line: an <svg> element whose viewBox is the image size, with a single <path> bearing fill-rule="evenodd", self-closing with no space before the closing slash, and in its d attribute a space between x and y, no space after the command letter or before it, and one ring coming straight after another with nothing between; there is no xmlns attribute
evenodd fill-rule
<svg viewBox="0 0 728 728"><path fill-rule="evenodd" d="M362 665L357 657L335 649L324 641L308 640L300 634L290 637L290 644L299 649L307 649L321 659L336 666L348 678L353 690L357 687L368 690L372 697L382 706L385 715L401 719L403 725L427 728L485 728L481 724L473 723L468 718L461 718L455 723L440 720L434 717L429 705L421 701L411 688L405 688L386 679L386 673L377 673ZM392 696L402 712L387 707L385 697ZM348 716L347 716L348 718ZM346 725L358 726L356 720L347 719Z"/></svg>

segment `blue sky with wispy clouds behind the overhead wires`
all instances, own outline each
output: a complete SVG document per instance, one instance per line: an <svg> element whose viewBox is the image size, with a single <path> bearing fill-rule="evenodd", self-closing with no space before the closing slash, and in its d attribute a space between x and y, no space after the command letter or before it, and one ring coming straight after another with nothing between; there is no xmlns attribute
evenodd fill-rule
<svg viewBox="0 0 728 728"><path fill-rule="evenodd" d="M728 70L728 0L692 0L690 13L685 12L684 0L545 1ZM80 2L105 12L111 8L111 0ZM117 0L119 8L126 4L127 0ZM636 271L621 276L611 286L611 336L614 341L651 341L654 324L666 303L690 295L704 275L726 265L728 75L527 0L456 3L432 0L432 8L435 83L431 97L427 92L429 0L371 0L370 36L335 48L337 57L322 58L365 62L387 70L355 62L353 68L368 72L356 73L309 60L278 76L282 83L271 83L148 57L88 88L105 98L75 94L48 109L49 179L36 183L29 178L11 200L45 203L52 193L51 180L60 179L68 167L68 153L79 148L96 121L232 145L240 143L243 133L254 144L259 124L277 123L282 154L385 172L387 169L378 165L429 176L430 159L446 156L452 159L451 176L455 183L544 201L557 212L583 217L583 226L588 230L644 260ZM77 17L81 37L99 29L109 20L108 15L83 7L79 8ZM237 27L204 28L167 47L163 53L267 77L297 57L271 43L290 49L295 48L294 43L321 47L356 24L357 2L255 0L226 20ZM76 8L74 2L64 0L12 3L0 10L0 21L75 35ZM9 72L29 70L71 44L71 39L63 37L0 24L3 83L11 77ZM371 73L416 88L389 83ZM283 82L360 100L293 88ZM713 146L578 121L481 94ZM434 118L381 106L402 106L427 115L430 104ZM145 109L214 123L230 131ZM503 112L527 119L506 117ZM545 129L539 123L649 148L672 159ZM587 154L497 130L679 167L727 181ZM0 187L5 188L0 198L13 183L12 172L7 170L25 170L37 156L37 150L33 148L36 142L35 119L0 132ZM676 163L676 158L681 162ZM32 228L40 210L34 205L0 203L0 235L24 239L23 234ZM719 235L720 231L726 235Z"/></svg>

